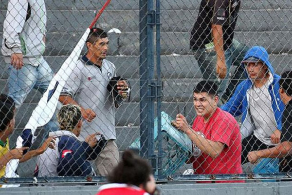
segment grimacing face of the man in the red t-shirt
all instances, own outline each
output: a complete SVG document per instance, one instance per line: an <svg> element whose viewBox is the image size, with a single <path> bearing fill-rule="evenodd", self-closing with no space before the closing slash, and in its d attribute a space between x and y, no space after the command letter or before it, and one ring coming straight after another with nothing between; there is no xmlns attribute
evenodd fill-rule
<svg viewBox="0 0 292 195"><path fill-rule="evenodd" d="M194 93L194 108L198 116L208 118L217 108L218 97L213 97L206 92Z"/></svg>

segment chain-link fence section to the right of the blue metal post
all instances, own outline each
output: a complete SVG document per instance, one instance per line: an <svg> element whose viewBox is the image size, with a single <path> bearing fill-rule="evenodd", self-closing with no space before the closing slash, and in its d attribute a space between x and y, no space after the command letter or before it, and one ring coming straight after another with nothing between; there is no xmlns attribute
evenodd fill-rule
<svg viewBox="0 0 292 195"><path fill-rule="evenodd" d="M240 171L238 172L235 165L238 163L238 158L241 158L242 173L279 173L279 164L280 170L285 167L287 171L289 170L288 161L284 165L281 164L281 159L279 161L276 158L269 158L274 155L272 152L264 151L263 153L265 154L253 152L273 148L280 139L280 135L275 135L279 133L276 130L280 128L277 125L281 125L285 120L277 119L276 115L277 111L283 112L284 110L282 102L278 101L280 96L278 86L276 86L276 76L274 76L274 79L270 78L270 81L267 82L268 84L266 83L264 86L261 84L256 85L253 83L253 80L247 79L248 74L246 74L251 73L252 75L249 75L249 78L254 77L253 74L256 74L256 72L253 71L256 70L248 69L249 66L247 64L241 66L241 61L251 47L261 45L269 53L269 59L272 64L270 65L271 67L268 67L270 75L281 75L286 70L290 70L290 47L288 46L290 38L286 37L286 33L289 34L290 21L289 18L286 18L285 14L285 12L291 12L288 6L289 3L286 1L277 1L276 3L269 1L220 1L219 5L216 3L218 2L212 0L202 0L201 2L162 2L161 23L163 32L161 36L161 50L163 56L161 59L165 67L164 71L162 71L164 81L163 96L164 101L171 102L165 105L163 110L172 118L181 113L186 117L190 125L194 123L193 129L195 131L203 133L207 139L211 140L211 144L213 144L212 141L219 141L225 144L225 148L219 151L218 156L214 157L212 152L218 153L217 146L213 145L213 150L211 151L206 149L209 147L209 143L204 143L205 139L193 137L193 144L197 145L197 147L193 146L191 147L192 149L186 150L186 146L182 146L183 142L175 137L176 141L174 144L168 143L169 146L175 145L175 147L173 147L172 153L170 152L171 150L168 150L168 156L166 155L167 157L164 158L164 163L169 163L169 159L173 159L172 163L177 165L176 172L171 170L173 171L171 174L174 175L189 175L193 173L238 174ZM214 26L211 26L211 23ZM225 64L227 65L227 77L230 79L225 84L222 79L218 82L216 74L216 67L219 65L216 31L218 32L219 30L215 24L222 25L224 33L224 45L222 46L225 50L224 57ZM233 40L231 41L231 39ZM217 44L219 44L218 40ZM288 47L286 48L286 46ZM265 63L264 60L266 59L264 58L266 57L264 56L265 54L261 48L254 48L254 50L249 51L249 55L246 58L255 57L256 61L254 62L258 62L258 59L261 59L264 64L268 64L268 62ZM220 58L222 59L222 55ZM228 72L229 67L230 73ZM194 121L195 111L201 113L199 114L200 116L204 114L204 109L207 109L203 102L198 103L200 101L198 94L195 93L193 97L193 89L202 78L216 81L219 84L218 93L221 96L219 106L224 104L221 108L237 118L242 134L241 157L240 155L237 156L237 150L240 147L236 143L238 137L234 137L237 130L232 127L233 125L230 121L224 124L224 117L220 117L219 120L212 117L209 121L204 121L205 123L202 122L202 119L198 118ZM243 83L234 92L237 84L241 81ZM275 108L274 106L277 103L279 107ZM200 111L201 108L202 110ZM168 119L167 116L162 118L164 120ZM287 121L287 117L285 118ZM217 129L216 123L221 124L221 130ZM286 131L287 127L289 125L284 126L284 132L287 134L287 137L291 137L291 134ZM232 128L232 133L228 133L228 128ZM165 126L164 130L166 129L169 131L170 128ZM167 135L166 140L173 141L173 136L170 136L172 139L168 139L168 133L165 133ZM198 134L196 136L200 137ZM285 137L285 135L282 134L282 137ZM234 146L228 144L229 139L232 140ZM281 140L287 139L282 138ZM229 150L233 150L232 148L234 150L232 152L226 151L226 145ZM185 154L183 155L183 152L176 147L179 147L180 150L183 148ZM276 150L279 151L281 149L277 148ZM287 149L284 150L286 150L286 153L288 152ZM193 153L193 156L195 156L192 159L193 166L180 164L179 162L182 162L180 161L181 159L183 161L189 160L190 153ZM275 153L275 156L283 157L280 153ZM180 160L177 161L175 157L178 157ZM251 165L249 161L256 165ZM168 170L165 173L169 174Z"/></svg>

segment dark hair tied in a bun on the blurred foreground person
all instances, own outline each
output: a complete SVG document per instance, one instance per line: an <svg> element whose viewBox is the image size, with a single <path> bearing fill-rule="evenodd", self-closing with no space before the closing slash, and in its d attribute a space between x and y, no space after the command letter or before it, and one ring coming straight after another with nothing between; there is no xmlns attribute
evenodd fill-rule
<svg viewBox="0 0 292 195"><path fill-rule="evenodd" d="M151 173L151 167L146 160L135 155L132 150L126 150L122 160L110 173L109 181L145 186Z"/></svg>

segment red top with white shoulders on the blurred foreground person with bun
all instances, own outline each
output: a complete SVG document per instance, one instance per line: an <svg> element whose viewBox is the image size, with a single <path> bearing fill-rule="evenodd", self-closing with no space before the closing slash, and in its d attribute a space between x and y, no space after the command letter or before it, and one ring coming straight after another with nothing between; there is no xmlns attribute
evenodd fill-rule
<svg viewBox="0 0 292 195"><path fill-rule="evenodd" d="M145 190L123 183L111 183L101 186L96 195L149 195Z"/></svg>

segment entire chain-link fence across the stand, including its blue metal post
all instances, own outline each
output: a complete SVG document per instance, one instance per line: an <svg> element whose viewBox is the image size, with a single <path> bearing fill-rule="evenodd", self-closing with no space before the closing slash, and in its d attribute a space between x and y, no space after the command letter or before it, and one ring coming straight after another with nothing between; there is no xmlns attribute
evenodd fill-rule
<svg viewBox="0 0 292 195"><path fill-rule="evenodd" d="M104 3L0 1L0 92L13 99L1 97L2 158ZM95 25L107 36L91 30L80 58L65 69L55 114L20 162L38 157L20 163L18 175L33 176L37 165L38 176L106 176L127 148L148 158L160 179L290 171L290 115L283 114L278 75L291 69L291 8L281 0L111 0ZM116 76L118 88L109 90ZM49 132L57 138L47 139ZM88 137L97 132L102 136Z"/></svg>

